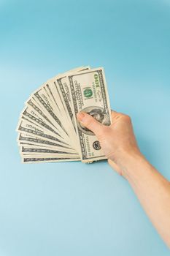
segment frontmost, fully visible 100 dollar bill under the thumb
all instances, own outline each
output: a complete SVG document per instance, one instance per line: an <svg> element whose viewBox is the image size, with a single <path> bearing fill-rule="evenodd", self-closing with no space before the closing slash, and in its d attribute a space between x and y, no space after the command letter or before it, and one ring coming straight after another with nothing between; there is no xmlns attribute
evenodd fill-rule
<svg viewBox="0 0 170 256"><path fill-rule="evenodd" d="M77 113L82 111L90 114L104 125L111 124L111 110L104 69L72 73L68 76L68 82L82 162L106 159L96 135L78 122L76 118Z"/></svg>

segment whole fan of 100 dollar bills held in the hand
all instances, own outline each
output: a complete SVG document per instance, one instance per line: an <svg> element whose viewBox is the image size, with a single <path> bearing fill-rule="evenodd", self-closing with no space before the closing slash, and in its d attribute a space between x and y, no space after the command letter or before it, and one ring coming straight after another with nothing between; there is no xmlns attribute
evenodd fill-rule
<svg viewBox="0 0 170 256"><path fill-rule="evenodd" d="M22 161L106 159L96 135L77 121L81 111L104 125L111 124L107 83L101 67L79 67L56 75L31 94L17 127Z"/></svg>

